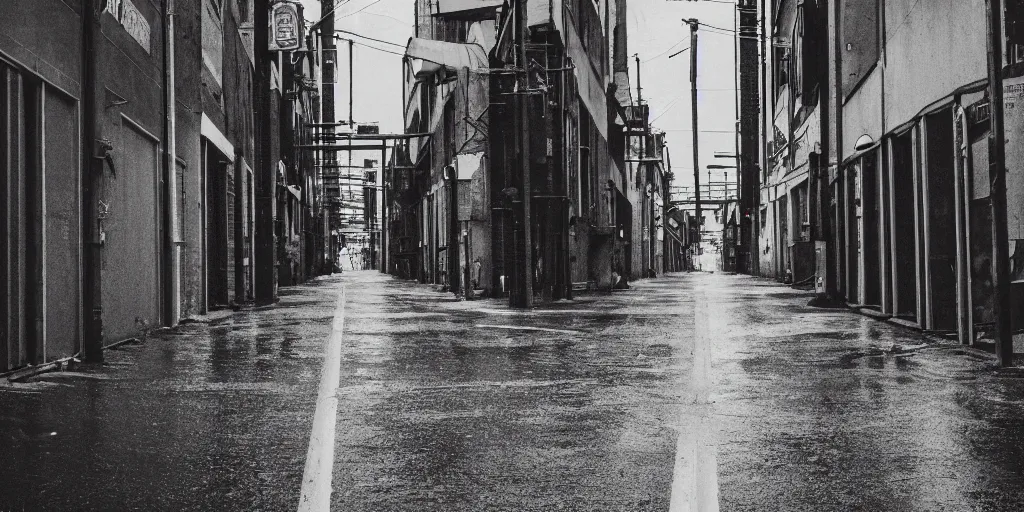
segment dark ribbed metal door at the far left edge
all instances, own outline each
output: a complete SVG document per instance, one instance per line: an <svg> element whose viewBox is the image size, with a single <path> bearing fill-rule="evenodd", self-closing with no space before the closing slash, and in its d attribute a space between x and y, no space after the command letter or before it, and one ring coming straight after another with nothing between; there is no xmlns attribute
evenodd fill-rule
<svg viewBox="0 0 1024 512"><path fill-rule="evenodd" d="M78 126L75 100L0 61L0 371L79 347Z"/></svg>

